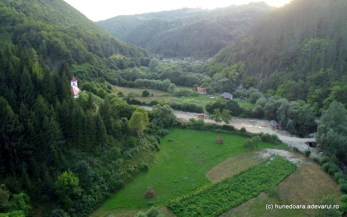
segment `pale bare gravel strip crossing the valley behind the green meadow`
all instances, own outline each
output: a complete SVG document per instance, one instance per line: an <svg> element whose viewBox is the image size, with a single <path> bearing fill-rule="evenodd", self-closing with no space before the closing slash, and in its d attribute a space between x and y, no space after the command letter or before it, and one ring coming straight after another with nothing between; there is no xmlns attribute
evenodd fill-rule
<svg viewBox="0 0 347 217"><path fill-rule="evenodd" d="M152 110L152 107L143 106L147 110ZM178 120L188 121L190 118L197 118L199 114L190 113L190 112L182 112L173 110ZM215 121L209 120L205 118L204 121L206 123L216 124ZM223 125L224 123L219 123ZM245 118L232 118L231 125L236 129L241 129L242 127L246 128L248 132L251 133L269 133L276 134L278 138L289 147L297 147L300 151L305 151L306 149L311 149L312 156L319 157L321 153L319 153L316 149L309 147L307 142L316 142L314 138L298 138L291 135L287 131L283 130L272 130L270 127L270 122L266 120L258 120L258 119L245 119ZM265 126L265 127L263 127Z"/></svg>

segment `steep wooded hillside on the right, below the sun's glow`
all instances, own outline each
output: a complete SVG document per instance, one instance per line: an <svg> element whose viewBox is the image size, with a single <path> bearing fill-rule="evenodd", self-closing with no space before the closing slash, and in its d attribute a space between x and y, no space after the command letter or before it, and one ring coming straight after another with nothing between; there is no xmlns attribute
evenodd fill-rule
<svg viewBox="0 0 347 217"><path fill-rule="evenodd" d="M346 11L346 0L292 0L222 49L206 74L234 86L266 78L263 91L307 100L318 112L334 100L347 105Z"/></svg>

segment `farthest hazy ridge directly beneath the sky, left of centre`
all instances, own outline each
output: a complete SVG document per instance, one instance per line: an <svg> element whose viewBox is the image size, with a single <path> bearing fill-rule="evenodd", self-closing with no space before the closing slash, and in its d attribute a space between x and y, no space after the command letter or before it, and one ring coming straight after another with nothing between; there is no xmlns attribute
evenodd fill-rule
<svg viewBox="0 0 347 217"><path fill-rule="evenodd" d="M177 10L159 11L134 15L119 15L97 23L107 32L121 38L124 34L135 28L137 25L150 19L175 20L181 17L205 14L208 10L201 8L182 8Z"/></svg>

